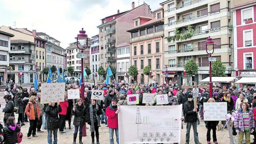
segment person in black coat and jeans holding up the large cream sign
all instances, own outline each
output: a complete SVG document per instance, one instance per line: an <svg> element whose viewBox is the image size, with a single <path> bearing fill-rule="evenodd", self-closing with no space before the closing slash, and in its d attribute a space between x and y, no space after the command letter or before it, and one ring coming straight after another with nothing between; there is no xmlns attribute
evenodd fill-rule
<svg viewBox="0 0 256 144"><path fill-rule="evenodd" d="M45 113L48 114L48 119L47 119L48 143L52 143L52 133L53 133L53 139L54 139L53 143L57 143L58 141L57 133L58 133L58 129L60 128L60 120L58 118L59 112L61 112L61 110L58 109L57 103L49 102L47 108L45 109Z"/></svg>

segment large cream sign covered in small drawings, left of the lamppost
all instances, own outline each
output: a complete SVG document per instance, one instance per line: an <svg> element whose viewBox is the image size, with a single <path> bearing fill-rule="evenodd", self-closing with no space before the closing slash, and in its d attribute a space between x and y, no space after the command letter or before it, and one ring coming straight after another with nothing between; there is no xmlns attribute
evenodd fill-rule
<svg viewBox="0 0 256 144"><path fill-rule="evenodd" d="M41 104L64 102L65 83L42 83Z"/></svg>

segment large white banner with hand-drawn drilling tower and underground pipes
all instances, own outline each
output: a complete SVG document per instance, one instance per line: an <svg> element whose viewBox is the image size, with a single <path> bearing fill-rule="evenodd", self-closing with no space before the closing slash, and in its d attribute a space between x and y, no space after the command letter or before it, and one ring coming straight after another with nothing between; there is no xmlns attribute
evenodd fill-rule
<svg viewBox="0 0 256 144"><path fill-rule="evenodd" d="M182 104L118 106L119 143L180 143Z"/></svg>

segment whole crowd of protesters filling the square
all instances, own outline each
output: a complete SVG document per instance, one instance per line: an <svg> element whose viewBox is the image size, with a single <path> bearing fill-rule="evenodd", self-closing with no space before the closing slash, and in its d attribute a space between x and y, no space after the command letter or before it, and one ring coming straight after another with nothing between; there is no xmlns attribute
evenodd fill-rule
<svg viewBox="0 0 256 144"><path fill-rule="evenodd" d="M105 124L109 127L110 144L114 143L114 131L116 142L119 144L118 135L118 113L120 110L117 105L127 105L127 95L139 94L140 106L155 106L157 105L156 99L154 104L143 104L143 93L154 94L167 94L168 104L165 105L183 105L183 124L186 123L186 143L190 141L190 129L193 126L194 142L201 144L198 138L197 125L200 125L200 119L204 119L203 103L204 102L226 102L228 113L233 110L238 110L234 121L234 131L238 133L239 144L242 143L243 136L245 135L246 144L250 143L250 132L254 135L253 144L256 144L255 120L256 120L256 92L250 88L236 88L230 86L223 89L221 85L213 86L213 95L209 95L209 87L201 88L199 98L196 102L193 99L193 91L191 89L178 86L177 83L172 84L127 84L117 83L112 81L111 84L95 84L90 86L85 84L84 99L67 99L67 92L65 93L64 102L40 104L40 90L41 87L35 91L33 85L29 90L14 85L12 88L6 88L4 99L6 106L3 109L4 123L3 137L6 144L16 143L16 137L11 137L12 134L20 131L20 127L29 122L29 130L27 138L38 137L36 133L44 132L41 129L47 129L47 141L49 144L57 143L57 133L66 132L66 120L68 120L68 129L71 129L71 119L73 116L74 134L73 144L77 142L77 135L79 135L79 144L82 144L83 127L86 123L90 125L91 141L92 144L99 144L99 127ZM80 89L77 84L69 84L65 90ZM90 90L104 90L103 100L91 99ZM81 89L80 89L81 91ZM75 103L75 105L73 104ZM196 105L194 106L194 103ZM18 113L17 123L15 123L15 114ZM211 130L213 142L217 144L216 126L219 121L205 121L207 128L206 140L211 143ZM222 121L226 128L226 121ZM79 134L78 134L79 131ZM24 131L23 131L24 133ZM53 135L53 141L52 141ZM86 135L86 134L85 134ZM96 137L96 142L95 142Z"/></svg>

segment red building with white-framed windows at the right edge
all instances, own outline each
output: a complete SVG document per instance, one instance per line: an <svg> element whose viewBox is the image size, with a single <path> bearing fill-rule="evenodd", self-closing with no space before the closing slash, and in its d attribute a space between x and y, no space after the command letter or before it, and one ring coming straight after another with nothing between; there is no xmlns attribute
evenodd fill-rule
<svg viewBox="0 0 256 144"><path fill-rule="evenodd" d="M235 76L256 76L256 1L232 1ZM255 86L255 83L246 84ZM240 86L241 87L241 86Z"/></svg>

